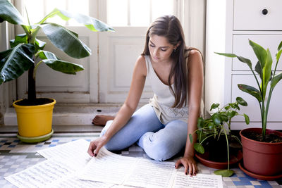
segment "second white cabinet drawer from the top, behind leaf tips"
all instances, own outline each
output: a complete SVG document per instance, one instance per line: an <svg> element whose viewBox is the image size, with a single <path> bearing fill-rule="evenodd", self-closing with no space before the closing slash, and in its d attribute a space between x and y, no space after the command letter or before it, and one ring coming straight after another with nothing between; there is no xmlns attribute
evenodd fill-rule
<svg viewBox="0 0 282 188"><path fill-rule="evenodd" d="M277 47L282 41L282 35L233 35L233 54L249 58L252 61L252 68L255 70L257 64L257 56L255 56L252 46L249 44L249 39L261 45L264 49L269 48L272 55L272 70L275 68ZM227 52L228 53L228 52ZM233 58L233 70L250 70L250 68L238 60ZM282 57L278 62L276 70L282 70Z"/></svg>

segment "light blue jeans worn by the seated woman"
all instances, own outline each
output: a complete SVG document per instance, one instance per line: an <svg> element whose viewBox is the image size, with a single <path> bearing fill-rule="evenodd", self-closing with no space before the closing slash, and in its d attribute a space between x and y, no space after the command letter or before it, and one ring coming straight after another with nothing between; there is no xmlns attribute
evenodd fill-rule
<svg viewBox="0 0 282 188"><path fill-rule="evenodd" d="M106 123L100 137L109 129L111 123L112 120ZM147 156L157 161L165 161L185 147L186 139L187 123L172 120L163 125L154 108L147 104L133 113L128 123L111 137L105 148L117 151L137 142Z"/></svg>

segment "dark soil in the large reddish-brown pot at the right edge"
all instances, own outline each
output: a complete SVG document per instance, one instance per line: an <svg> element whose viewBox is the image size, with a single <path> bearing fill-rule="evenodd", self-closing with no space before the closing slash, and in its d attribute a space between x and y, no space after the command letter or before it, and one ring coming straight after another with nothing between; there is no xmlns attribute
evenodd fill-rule
<svg viewBox="0 0 282 188"><path fill-rule="evenodd" d="M248 139L252 139L258 142L263 142L262 141L262 133L259 132L244 132L243 135L247 137ZM282 142L282 137L276 134L266 134L264 142L268 143L279 143Z"/></svg>

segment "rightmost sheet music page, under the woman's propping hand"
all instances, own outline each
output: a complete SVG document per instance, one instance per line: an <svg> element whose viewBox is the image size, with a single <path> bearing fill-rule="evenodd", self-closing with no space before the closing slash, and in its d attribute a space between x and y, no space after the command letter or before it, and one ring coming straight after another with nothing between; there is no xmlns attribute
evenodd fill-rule
<svg viewBox="0 0 282 188"><path fill-rule="evenodd" d="M190 177L190 175L185 175L183 172L178 171L176 173L176 178L173 182L173 187L222 188L223 183L221 175L197 174L196 176Z"/></svg>

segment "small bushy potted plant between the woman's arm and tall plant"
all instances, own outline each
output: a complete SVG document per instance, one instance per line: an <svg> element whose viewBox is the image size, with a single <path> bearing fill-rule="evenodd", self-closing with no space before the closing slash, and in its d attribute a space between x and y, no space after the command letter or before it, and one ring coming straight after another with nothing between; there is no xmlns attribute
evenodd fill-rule
<svg viewBox="0 0 282 188"><path fill-rule="evenodd" d="M196 157L204 165L218 169L226 168L227 161L227 169L214 171L216 175L224 177L233 175L233 170L229 168L231 142L235 140L240 143L240 139L231 134L231 120L236 115L242 115L238 113L240 105L247 106L247 102L241 97L237 97L235 102L226 104L222 108L219 108L219 104L212 104L209 111L215 112L211 113L209 118L198 118L197 120L198 129L193 132L193 134L197 133L197 142L194 144L194 149L200 154L196 154ZM249 116L245 113L243 116L245 123L249 124ZM192 143L192 134L189 137ZM233 155L238 156L238 149L233 150L235 150L235 152L232 152Z"/></svg>

